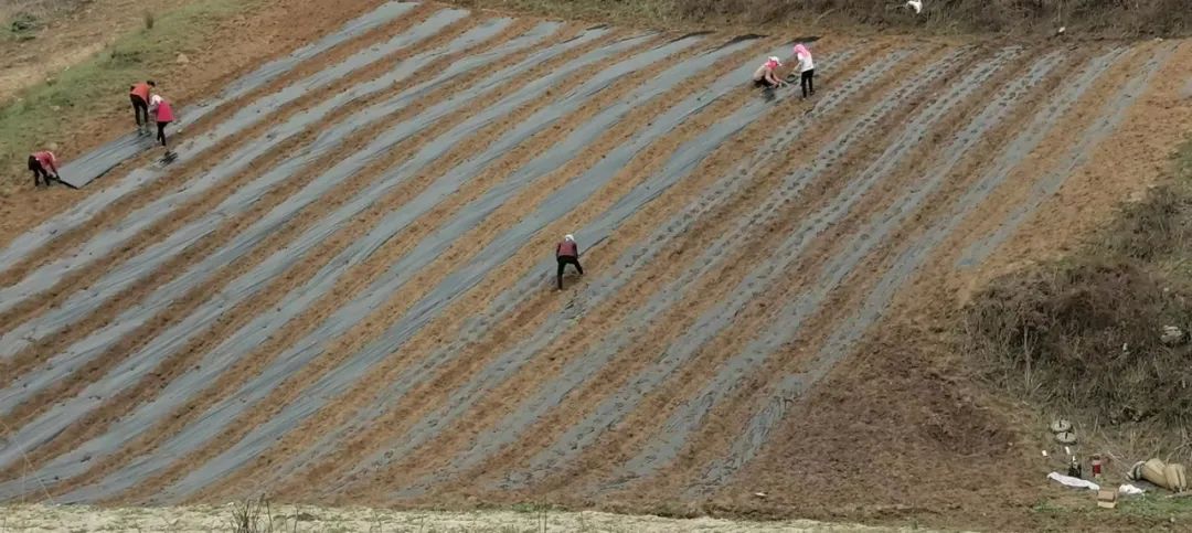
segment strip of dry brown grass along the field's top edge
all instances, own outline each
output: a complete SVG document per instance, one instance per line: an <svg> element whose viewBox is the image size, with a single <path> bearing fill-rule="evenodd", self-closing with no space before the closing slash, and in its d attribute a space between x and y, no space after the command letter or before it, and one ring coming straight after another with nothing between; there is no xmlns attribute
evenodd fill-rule
<svg viewBox="0 0 1192 533"><path fill-rule="evenodd" d="M470 7L528 11L671 29L689 25L850 25L936 33L1010 32L1110 37L1192 32L1190 0L455 0Z"/></svg>

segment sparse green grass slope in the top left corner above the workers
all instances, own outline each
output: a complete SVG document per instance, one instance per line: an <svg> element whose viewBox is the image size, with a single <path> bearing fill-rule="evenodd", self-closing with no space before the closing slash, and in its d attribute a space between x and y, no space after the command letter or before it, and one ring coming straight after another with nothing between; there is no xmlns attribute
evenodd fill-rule
<svg viewBox="0 0 1192 533"><path fill-rule="evenodd" d="M176 68L179 52L197 49L215 24L250 5L250 0L199 0L160 14L95 57L26 88L0 107L0 168L10 171L0 191L12 187L13 175L27 181L23 163L29 153L61 142L72 122L128 107L130 85L162 78Z"/></svg>

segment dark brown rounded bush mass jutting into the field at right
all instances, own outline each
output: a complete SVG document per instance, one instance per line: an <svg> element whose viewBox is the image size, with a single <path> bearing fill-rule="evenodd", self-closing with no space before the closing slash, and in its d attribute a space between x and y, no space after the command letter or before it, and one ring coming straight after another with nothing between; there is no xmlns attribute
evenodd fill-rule
<svg viewBox="0 0 1192 533"><path fill-rule="evenodd" d="M1132 261L1045 265L995 281L968 306L969 352L1002 386L1109 424L1192 422L1192 293Z"/></svg>

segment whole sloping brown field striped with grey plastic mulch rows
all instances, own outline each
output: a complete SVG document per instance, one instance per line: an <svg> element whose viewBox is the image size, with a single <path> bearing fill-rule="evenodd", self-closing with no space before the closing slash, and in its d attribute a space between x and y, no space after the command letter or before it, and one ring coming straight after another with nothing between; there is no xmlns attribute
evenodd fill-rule
<svg viewBox="0 0 1192 533"><path fill-rule="evenodd" d="M1185 42L813 47L387 4L262 67L0 252L0 498L714 497L1190 118Z"/></svg>

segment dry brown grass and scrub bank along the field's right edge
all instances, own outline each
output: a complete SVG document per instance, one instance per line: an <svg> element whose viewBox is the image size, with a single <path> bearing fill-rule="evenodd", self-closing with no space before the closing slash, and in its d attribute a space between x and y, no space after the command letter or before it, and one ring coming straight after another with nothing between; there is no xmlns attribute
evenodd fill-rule
<svg viewBox="0 0 1192 533"><path fill-rule="evenodd" d="M994 386L1084 420L1086 435L1105 429L1135 453L1187 461L1192 141L1174 166L1174 182L1125 205L1073 256L980 292L964 312L964 348ZM1167 327L1182 337L1165 340Z"/></svg>

